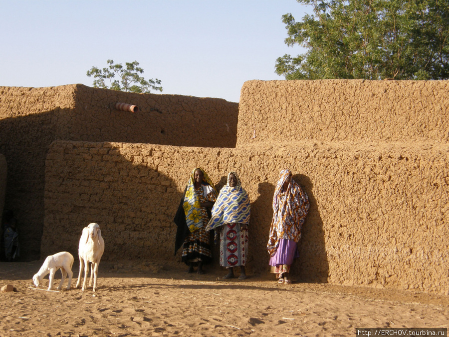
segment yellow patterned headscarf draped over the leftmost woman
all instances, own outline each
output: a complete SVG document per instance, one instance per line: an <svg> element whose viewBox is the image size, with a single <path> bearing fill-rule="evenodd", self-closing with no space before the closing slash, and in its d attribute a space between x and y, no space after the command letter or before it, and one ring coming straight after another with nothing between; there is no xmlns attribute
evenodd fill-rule
<svg viewBox="0 0 449 337"><path fill-rule="evenodd" d="M212 201L207 200L207 196L212 193L216 198L218 194L214 184L212 183L207 173L200 167L195 168L195 170L192 171L190 179L187 183L186 195L184 197L183 204L184 213L186 214L187 227L189 228L191 233L198 231L200 228L206 226L209 220L206 209L202 209L200 206L200 194L195 191L195 171L198 169L200 169L204 175L202 186L204 199L206 201Z"/></svg>

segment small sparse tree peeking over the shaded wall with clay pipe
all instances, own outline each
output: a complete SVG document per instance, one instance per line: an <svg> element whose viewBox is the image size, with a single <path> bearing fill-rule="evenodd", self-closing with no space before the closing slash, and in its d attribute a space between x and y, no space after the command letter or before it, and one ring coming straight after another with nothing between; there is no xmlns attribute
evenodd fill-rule
<svg viewBox="0 0 449 337"><path fill-rule="evenodd" d="M105 88L118 91L138 92L138 93L150 93L150 90L162 91L160 79L149 79L141 77L143 69L140 68L139 62L127 62L126 67L123 67L121 63L114 64L113 60L108 60L108 67L99 69L92 67L87 71L87 76L94 77L93 86L95 88ZM120 80L114 79L115 75L118 75ZM109 81L110 86L105 84L105 81Z"/></svg>

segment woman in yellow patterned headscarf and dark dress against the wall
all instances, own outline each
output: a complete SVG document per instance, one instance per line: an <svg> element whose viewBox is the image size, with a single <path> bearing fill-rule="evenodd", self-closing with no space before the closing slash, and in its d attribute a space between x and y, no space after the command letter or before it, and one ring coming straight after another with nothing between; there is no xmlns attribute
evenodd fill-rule
<svg viewBox="0 0 449 337"><path fill-rule="evenodd" d="M182 261L189 266L188 273L204 274L203 264L212 261L211 238L205 227L209 222L208 208L217 200L217 190L209 176L197 167L187 183L175 223L178 226L175 241L175 255L183 247Z"/></svg>

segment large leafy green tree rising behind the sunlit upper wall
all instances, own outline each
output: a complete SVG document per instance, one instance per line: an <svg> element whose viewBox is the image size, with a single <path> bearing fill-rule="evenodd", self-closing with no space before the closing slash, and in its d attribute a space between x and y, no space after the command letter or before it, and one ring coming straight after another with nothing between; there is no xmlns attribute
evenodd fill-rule
<svg viewBox="0 0 449 337"><path fill-rule="evenodd" d="M288 46L278 57L286 79L448 79L449 0L297 0L313 14L282 16Z"/></svg>

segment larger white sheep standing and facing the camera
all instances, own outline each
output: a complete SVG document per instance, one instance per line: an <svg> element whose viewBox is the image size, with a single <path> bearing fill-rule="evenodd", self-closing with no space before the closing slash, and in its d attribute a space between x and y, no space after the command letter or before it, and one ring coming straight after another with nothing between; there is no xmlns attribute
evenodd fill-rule
<svg viewBox="0 0 449 337"><path fill-rule="evenodd" d="M100 264L101 256L104 252L104 240L101 237L100 226L96 223L91 223L83 228L83 234L79 239L78 256L79 256L79 275L76 282L76 288L81 283L81 273L84 268L84 281L82 291L87 288L87 275L89 274L89 262L92 263L92 270L90 273L89 286L92 286L93 291L97 291L97 273L98 265Z"/></svg>

